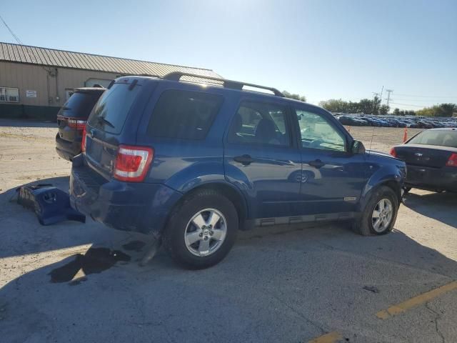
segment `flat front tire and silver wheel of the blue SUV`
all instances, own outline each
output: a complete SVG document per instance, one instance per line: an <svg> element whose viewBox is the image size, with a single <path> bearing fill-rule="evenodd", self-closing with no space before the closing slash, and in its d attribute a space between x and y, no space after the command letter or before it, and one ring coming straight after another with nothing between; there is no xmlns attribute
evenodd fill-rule
<svg viewBox="0 0 457 343"><path fill-rule="evenodd" d="M376 214L378 214L382 208L380 207L382 204L381 201L383 201L385 209L388 208L388 204L390 203L391 216L389 219L389 215L386 214L388 211L383 212L383 214L378 217L378 219L381 220L381 224L376 224ZM354 231L362 236L381 235L391 232L397 219L398 207L398 198L396 193L393 192L393 189L386 186L375 189L373 194L371 194L365 209L363 209L361 218L353 223ZM376 225L378 225L378 227L376 227Z"/></svg>

